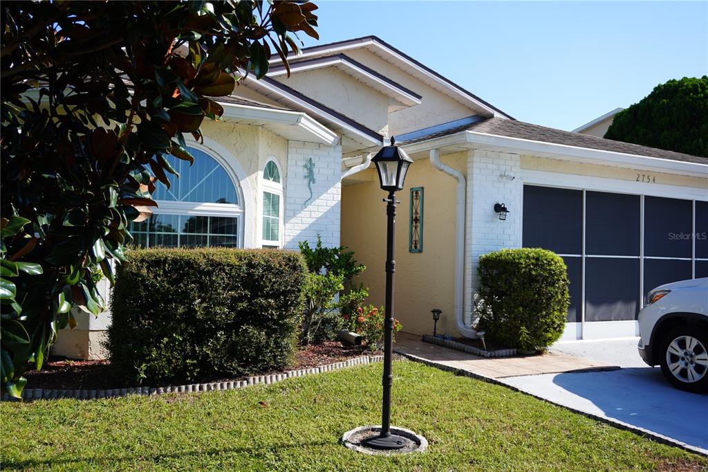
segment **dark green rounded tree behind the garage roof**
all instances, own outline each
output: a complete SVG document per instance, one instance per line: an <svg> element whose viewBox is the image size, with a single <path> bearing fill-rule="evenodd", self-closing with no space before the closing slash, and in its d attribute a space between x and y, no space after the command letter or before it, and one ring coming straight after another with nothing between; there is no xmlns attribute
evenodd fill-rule
<svg viewBox="0 0 708 472"><path fill-rule="evenodd" d="M708 76L657 85L617 113L605 137L708 157Z"/></svg>

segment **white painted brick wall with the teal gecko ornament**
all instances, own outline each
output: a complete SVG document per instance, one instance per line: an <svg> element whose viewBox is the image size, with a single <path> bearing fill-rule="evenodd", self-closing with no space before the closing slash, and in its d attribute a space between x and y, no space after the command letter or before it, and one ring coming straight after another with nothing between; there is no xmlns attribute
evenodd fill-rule
<svg viewBox="0 0 708 472"><path fill-rule="evenodd" d="M315 184L309 198L305 165L312 157ZM341 146L319 145L314 142L289 141L287 150L287 183L285 184L286 249L297 249L297 243L307 240L336 247L340 244L341 211Z"/></svg>

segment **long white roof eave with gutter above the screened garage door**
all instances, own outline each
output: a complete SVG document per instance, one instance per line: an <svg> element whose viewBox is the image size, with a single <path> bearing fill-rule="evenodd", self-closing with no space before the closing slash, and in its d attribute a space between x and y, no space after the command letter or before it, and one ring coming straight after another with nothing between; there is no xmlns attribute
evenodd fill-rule
<svg viewBox="0 0 708 472"><path fill-rule="evenodd" d="M551 159L571 160L586 162L588 164L602 164L614 167L634 167L655 172L670 172L687 176L708 177L708 164L683 162L660 157L641 156L595 150L588 147L559 145L552 142L525 140L518 137L506 137L479 133L478 131L461 131L454 135L437 137L432 140L415 142L411 145L402 145L409 154L426 152L431 149L451 151L462 149L499 149L504 152L528 154Z"/></svg>

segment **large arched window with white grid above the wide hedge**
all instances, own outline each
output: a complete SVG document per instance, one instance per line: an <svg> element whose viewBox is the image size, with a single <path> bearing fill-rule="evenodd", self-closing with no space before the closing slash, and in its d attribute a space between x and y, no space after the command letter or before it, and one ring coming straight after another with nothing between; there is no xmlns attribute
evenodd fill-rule
<svg viewBox="0 0 708 472"><path fill-rule="evenodd" d="M167 174L170 187L157 184L152 198L159 207L131 234L142 247L243 246L243 207L239 188L215 157L189 148L194 164L166 156L179 178Z"/></svg>

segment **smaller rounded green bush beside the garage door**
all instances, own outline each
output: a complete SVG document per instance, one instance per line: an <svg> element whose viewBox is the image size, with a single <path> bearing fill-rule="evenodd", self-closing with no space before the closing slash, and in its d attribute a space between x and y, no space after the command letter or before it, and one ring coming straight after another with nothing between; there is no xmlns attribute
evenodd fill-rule
<svg viewBox="0 0 708 472"><path fill-rule="evenodd" d="M546 249L502 249L479 258L479 330L504 347L537 351L562 334L570 303L566 264Z"/></svg>

